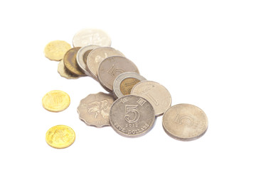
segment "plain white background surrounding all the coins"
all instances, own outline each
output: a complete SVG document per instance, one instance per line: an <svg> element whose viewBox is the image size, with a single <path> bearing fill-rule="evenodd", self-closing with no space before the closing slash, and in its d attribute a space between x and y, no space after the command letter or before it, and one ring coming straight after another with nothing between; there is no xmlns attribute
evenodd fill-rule
<svg viewBox="0 0 256 170"><path fill-rule="evenodd" d="M256 2L1 1L0 169L255 169ZM76 111L88 94L106 92L90 77L69 80L46 44L82 28L100 28L146 79L169 89L172 105L191 103L208 116L208 131L192 142L154 128L138 138L85 125ZM70 106L41 105L51 90ZM76 140L66 149L45 141L54 125Z"/></svg>

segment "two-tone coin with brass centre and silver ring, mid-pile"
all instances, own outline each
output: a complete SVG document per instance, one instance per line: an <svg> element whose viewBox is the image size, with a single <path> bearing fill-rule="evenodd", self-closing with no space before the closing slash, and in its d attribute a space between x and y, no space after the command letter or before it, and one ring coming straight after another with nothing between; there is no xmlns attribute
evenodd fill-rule
<svg viewBox="0 0 256 170"><path fill-rule="evenodd" d="M124 72L114 79L113 91L114 97L120 98L124 95L131 94L132 87L139 81L146 80L140 74L134 72Z"/></svg>

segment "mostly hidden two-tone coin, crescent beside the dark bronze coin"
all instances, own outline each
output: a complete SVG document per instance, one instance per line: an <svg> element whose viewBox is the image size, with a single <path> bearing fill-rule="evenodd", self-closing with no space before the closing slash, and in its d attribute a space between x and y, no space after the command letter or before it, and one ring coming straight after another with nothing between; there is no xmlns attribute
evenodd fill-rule
<svg viewBox="0 0 256 170"><path fill-rule="evenodd" d="M87 76L90 76L90 73L87 71L87 66L86 66L87 56L89 55L89 53L93 49L95 49L97 47L100 47L100 46L98 46L98 45L87 45L85 47L81 47L80 50L78 50L78 54L76 56L78 66L80 67L82 72L84 72Z"/></svg>

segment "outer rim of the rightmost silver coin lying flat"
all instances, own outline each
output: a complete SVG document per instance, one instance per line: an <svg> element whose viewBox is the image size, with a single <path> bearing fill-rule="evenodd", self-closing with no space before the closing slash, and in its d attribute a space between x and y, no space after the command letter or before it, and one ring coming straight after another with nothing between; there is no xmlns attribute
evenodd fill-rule
<svg viewBox="0 0 256 170"><path fill-rule="evenodd" d="M175 140L180 140L180 141L192 141L192 140L197 140L198 138L202 137L202 136L206 133L206 131L208 130L208 118L207 118L206 113L204 113L204 111L203 111L201 108L198 108L198 109L201 110L201 111L203 112L203 114L206 116L206 129L205 129L200 135L198 135L198 136L196 136L196 137L184 138L184 137L178 137L178 136L176 136L176 135L174 135L174 134L171 134L171 132L169 132L169 131L167 130L166 125L164 125L164 118L166 117L166 113L167 113L167 111L169 111L170 109L172 109L172 108L174 108L174 107L176 107L176 106L179 106L179 105L193 106L193 107L198 108L198 106L194 106L194 105L188 104L188 103L180 103L180 104L176 104L176 105L171 106L170 108L168 108L168 109L166 110L166 112L164 113L163 118L162 118L162 126L163 126L164 131L166 132L166 134L169 135L170 137L174 138Z"/></svg>

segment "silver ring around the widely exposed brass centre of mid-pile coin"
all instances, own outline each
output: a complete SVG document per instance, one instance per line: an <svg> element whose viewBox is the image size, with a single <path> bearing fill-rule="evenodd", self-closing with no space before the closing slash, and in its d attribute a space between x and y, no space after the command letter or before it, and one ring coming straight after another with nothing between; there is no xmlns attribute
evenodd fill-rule
<svg viewBox="0 0 256 170"><path fill-rule="evenodd" d="M120 84L122 83L122 81L124 81L124 79L128 79L128 78L138 79L139 81L146 80L141 74L137 74L136 72L124 72L122 74L119 74L114 79L114 84L113 84L114 98L120 98L120 97L124 96L124 94L122 94L122 91L120 89ZM131 93L132 93L132 91L131 91Z"/></svg>

